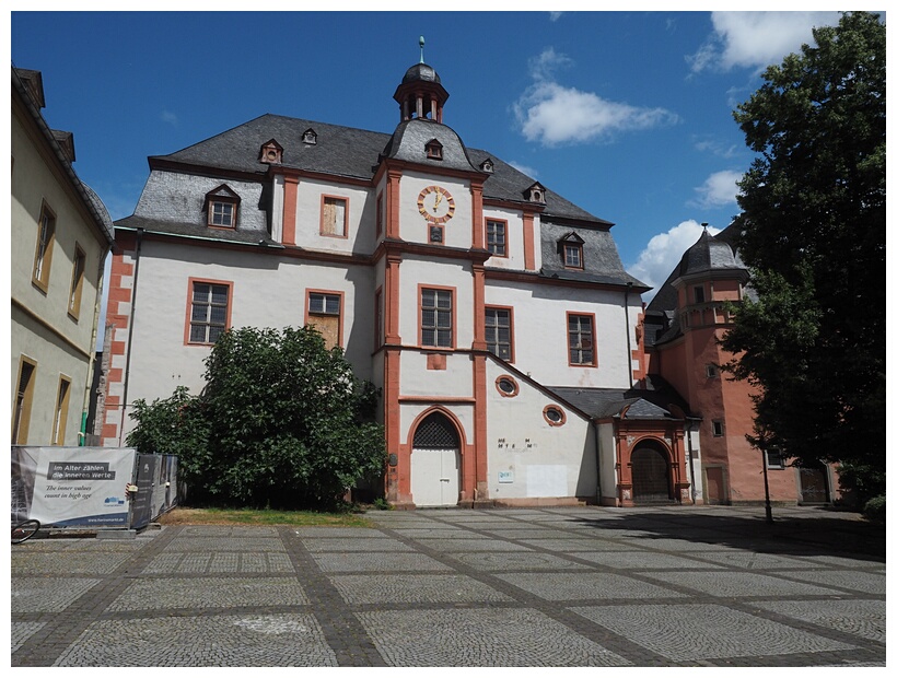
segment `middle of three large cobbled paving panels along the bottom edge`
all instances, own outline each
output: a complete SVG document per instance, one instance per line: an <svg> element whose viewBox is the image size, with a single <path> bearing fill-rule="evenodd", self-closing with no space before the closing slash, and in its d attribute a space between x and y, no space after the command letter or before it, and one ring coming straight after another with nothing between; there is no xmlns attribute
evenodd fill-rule
<svg viewBox="0 0 897 678"><path fill-rule="evenodd" d="M631 666L532 609L358 612L391 666Z"/></svg>

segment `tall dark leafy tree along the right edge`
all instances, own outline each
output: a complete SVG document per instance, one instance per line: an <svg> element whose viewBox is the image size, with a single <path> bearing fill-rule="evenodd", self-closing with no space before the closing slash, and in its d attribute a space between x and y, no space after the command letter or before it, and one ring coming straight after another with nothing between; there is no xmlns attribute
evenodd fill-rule
<svg viewBox="0 0 897 678"><path fill-rule="evenodd" d="M754 274L723 346L761 387L758 442L885 468L885 26L851 12L764 73L734 113Z"/></svg>

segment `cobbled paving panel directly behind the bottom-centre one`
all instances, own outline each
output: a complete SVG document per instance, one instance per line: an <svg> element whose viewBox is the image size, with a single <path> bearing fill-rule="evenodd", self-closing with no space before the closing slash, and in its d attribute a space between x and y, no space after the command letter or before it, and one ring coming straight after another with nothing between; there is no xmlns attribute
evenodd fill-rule
<svg viewBox="0 0 897 678"><path fill-rule="evenodd" d="M350 605L511 600L461 574L334 575L330 582Z"/></svg>

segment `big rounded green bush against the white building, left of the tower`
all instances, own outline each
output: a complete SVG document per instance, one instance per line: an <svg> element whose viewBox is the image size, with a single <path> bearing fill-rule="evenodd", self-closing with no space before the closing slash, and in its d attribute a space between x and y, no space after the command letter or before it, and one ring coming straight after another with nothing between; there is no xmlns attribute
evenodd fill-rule
<svg viewBox="0 0 897 678"><path fill-rule="evenodd" d="M164 452L176 444L191 496L230 505L329 507L358 480L382 472L385 442L373 420L377 391L356 378L342 351L328 350L314 328L230 330L206 359L205 378L201 395L188 400L189 418L172 414L188 398L176 391L137 407L138 426L128 439ZM176 433L164 425L173 419ZM177 425L197 420L201 434ZM167 448L154 442L160 429L174 439ZM184 444L198 437L205 444Z"/></svg>

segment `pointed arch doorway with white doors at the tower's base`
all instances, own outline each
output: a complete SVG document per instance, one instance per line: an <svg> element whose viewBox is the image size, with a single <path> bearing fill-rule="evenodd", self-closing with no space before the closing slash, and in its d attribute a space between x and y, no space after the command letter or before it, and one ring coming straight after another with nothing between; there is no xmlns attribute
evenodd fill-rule
<svg viewBox="0 0 897 678"><path fill-rule="evenodd" d="M449 417L428 414L415 431L411 500L416 506L456 506L461 490L461 439Z"/></svg>

